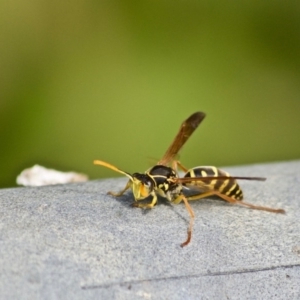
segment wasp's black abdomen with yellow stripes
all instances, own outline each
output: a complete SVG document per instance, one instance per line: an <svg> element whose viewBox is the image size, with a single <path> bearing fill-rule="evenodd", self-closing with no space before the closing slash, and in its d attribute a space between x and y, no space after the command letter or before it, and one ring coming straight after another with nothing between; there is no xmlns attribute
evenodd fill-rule
<svg viewBox="0 0 300 300"><path fill-rule="evenodd" d="M243 192L240 189L237 181L230 178L230 175L216 167L195 167L187 171L184 177L219 177L225 176L228 179L213 179L203 181L191 181L193 185L207 186L209 189L217 190L221 194L227 195L235 200L243 199ZM187 184L188 185L188 184Z"/></svg>

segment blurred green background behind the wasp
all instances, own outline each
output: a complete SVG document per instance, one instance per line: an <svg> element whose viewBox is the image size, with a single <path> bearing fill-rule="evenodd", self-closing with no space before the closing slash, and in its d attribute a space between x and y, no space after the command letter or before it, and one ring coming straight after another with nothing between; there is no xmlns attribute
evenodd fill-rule
<svg viewBox="0 0 300 300"><path fill-rule="evenodd" d="M0 76L0 187L142 172L198 110L187 167L300 158L299 1L1 1Z"/></svg>

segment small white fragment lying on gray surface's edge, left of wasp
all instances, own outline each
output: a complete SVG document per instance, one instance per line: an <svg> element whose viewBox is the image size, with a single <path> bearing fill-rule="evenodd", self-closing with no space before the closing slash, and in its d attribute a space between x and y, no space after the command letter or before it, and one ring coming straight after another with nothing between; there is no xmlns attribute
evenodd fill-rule
<svg viewBox="0 0 300 300"><path fill-rule="evenodd" d="M70 182L87 181L88 176L76 172L61 172L34 165L25 169L17 177L17 184L24 186L42 186L51 184L65 184Z"/></svg>

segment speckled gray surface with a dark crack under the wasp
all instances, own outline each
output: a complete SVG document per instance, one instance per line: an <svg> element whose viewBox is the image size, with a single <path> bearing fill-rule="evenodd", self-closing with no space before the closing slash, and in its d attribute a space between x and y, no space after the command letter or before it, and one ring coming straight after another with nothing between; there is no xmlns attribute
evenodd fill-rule
<svg viewBox="0 0 300 300"><path fill-rule="evenodd" d="M287 214L193 201L181 248L184 205L106 195L125 178L0 190L0 298L300 299L300 161L226 170L268 177L246 199Z"/></svg>

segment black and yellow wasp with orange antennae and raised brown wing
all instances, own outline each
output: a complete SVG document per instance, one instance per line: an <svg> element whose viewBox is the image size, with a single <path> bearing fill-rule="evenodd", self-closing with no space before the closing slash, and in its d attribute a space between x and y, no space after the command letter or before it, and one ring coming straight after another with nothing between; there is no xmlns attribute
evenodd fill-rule
<svg viewBox="0 0 300 300"><path fill-rule="evenodd" d="M236 180L246 179L264 181L265 178L230 176L227 172L221 171L216 167L195 167L188 170L176 160L176 155L179 150L204 118L205 113L203 112L196 112L187 118L181 124L179 132L163 158L145 173L130 174L107 162L101 160L94 161L95 165L112 169L129 178L129 181L123 190L118 193L108 192L108 194L119 197L122 196L126 190L131 188L135 200L133 206L135 207L153 208L157 203L157 195L168 199L174 204L178 204L183 201L190 215L190 222L188 227L188 236L186 241L181 244L182 247L186 246L191 240L195 216L188 201L215 195L231 204L239 204L252 209L265 210L274 213L285 212L283 209L257 206L242 201L243 193ZM178 168L185 172L185 175L181 178L178 175ZM184 194L184 189L196 189L196 193L191 196L186 196ZM152 197L152 201L150 203L138 202L148 196Z"/></svg>

